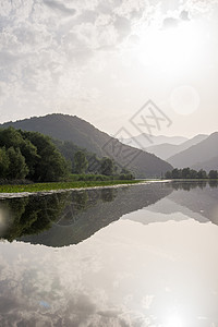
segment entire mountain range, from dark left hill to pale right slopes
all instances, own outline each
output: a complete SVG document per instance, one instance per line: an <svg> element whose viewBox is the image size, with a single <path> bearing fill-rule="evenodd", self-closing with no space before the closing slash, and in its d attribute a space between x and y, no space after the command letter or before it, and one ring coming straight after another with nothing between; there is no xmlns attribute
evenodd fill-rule
<svg viewBox="0 0 218 327"><path fill-rule="evenodd" d="M121 143L119 140L99 131L90 123L75 117L61 113L34 117L16 122L7 122L0 128L13 126L26 131L40 132L56 140L71 142L71 148L76 152L86 149L97 157L110 157L120 167L134 172L136 178L160 177L172 168L190 167L195 170L218 169L218 132L211 135L198 134L191 140L183 136L152 136L155 145L145 150ZM134 144L134 140L150 145L144 134L125 140Z"/></svg>

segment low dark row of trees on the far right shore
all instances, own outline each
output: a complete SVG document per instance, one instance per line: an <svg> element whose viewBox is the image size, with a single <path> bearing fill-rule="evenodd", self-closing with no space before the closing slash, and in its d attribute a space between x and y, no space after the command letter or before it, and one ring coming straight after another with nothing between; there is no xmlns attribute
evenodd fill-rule
<svg viewBox="0 0 218 327"><path fill-rule="evenodd" d="M191 168L178 169L174 168L172 171L167 171L165 174L166 179L218 179L218 171L210 170L207 173L205 170L194 170Z"/></svg>

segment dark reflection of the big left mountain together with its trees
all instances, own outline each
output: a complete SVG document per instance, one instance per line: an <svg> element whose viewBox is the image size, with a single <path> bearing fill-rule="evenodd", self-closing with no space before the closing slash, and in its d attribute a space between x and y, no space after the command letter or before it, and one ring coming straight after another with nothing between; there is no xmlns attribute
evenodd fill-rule
<svg viewBox="0 0 218 327"><path fill-rule="evenodd" d="M149 184L4 199L0 207L8 209L10 219L1 237L48 246L76 244L171 192L166 185Z"/></svg>

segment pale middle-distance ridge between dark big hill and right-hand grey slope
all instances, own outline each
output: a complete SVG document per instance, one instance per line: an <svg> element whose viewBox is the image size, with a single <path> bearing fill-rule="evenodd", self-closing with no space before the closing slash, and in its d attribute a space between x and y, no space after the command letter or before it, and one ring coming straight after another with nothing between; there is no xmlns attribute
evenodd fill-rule
<svg viewBox="0 0 218 327"><path fill-rule="evenodd" d="M159 145L149 146L146 148L146 150L150 154L156 155L162 160L167 160L168 158L174 156L175 154L185 150L186 148L206 140L207 137L208 135L198 134L193 138L183 142L182 144L175 145L175 144L164 143Z"/></svg>

